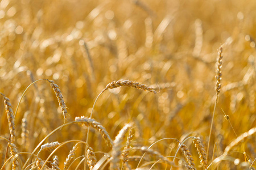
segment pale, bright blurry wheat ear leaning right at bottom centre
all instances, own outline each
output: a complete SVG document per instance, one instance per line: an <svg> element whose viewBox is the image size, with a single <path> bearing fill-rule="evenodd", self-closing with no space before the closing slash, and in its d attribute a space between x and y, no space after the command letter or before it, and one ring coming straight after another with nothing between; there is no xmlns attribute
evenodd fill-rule
<svg viewBox="0 0 256 170"><path fill-rule="evenodd" d="M112 162L110 162L110 167L112 169L119 169L119 156L121 155L121 150L120 148L122 147L122 141L125 138L125 134L127 133L127 131L129 130L129 128L131 127L131 124L126 124L125 126L123 126L123 128L119 131L118 135L115 137L114 140L114 145L113 145L113 150L112 150Z"/></svg>

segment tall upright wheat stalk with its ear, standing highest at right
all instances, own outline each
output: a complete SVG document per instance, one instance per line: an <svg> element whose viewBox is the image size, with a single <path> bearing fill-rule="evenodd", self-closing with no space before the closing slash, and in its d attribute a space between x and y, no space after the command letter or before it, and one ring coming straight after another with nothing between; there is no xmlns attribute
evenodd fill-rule
<svg viewBox="0 0 256 170"><path fill-rule="evenodd" d="M218 94L220 94L220 89L221 89L221 67L222 67L222 46L220 46L220 49L218 51L218 58L217 58L217 69L216 69L216 100L214 104L214 109L213 109L213 114L212 114L212 122L210 123L210 133L209 133L209 141L208 141L208 146L207 146L207 160L208 160L208 155L209 155L209 147L210 147L210 136L212 135L212 126L213 126L213 119L214 119L214 113L218 101Z"/></svg>

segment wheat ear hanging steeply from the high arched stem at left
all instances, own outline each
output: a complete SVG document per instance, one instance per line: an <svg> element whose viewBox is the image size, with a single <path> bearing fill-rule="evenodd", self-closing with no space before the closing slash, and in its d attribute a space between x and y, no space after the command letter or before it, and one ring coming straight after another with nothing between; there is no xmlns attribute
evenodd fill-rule
<svg viewBox="0 0 256 170"><path fill-rule="evenodd" d="M47 79L46 79L47 80ZM55 82L53 80L47 80L49 83L51 83L51 87L53 89L53 91L55 92L55 95L57 97L57 100L59 101L59 105L61 107L62 110L62 116L64 117L64 120L67 120L67 106L65 104L65 101L63 99L63 95L60 91L60 88L57 84L55 84Z"/></svg>

